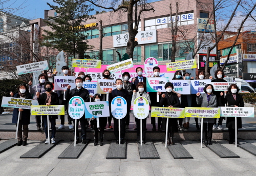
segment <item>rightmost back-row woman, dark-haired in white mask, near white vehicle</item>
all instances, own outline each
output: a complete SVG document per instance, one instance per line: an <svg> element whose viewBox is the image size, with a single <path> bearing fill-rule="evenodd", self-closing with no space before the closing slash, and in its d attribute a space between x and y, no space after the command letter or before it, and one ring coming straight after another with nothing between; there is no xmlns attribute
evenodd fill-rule
<svg viewBox="0 0 256 176"><path fill-rule="evenodd" d="M223 78L225 77L224 72L221 69L218 69L215 71L215 78L214 80L212 80L212 76L210 76L211 82L227 82L226 80L224 80ZM214 92L214 94L217 96L217 103L218 106L224 106L224 96L221 96L221 93L224 94L223 91L216 91ZM214 122L214 126L212 127L213 129L223 129L222 127L222 122L223 119L225 119L225 117L220 117L218 120L218 126L217 126L217 118L215 118L215 122Z"/></svg>

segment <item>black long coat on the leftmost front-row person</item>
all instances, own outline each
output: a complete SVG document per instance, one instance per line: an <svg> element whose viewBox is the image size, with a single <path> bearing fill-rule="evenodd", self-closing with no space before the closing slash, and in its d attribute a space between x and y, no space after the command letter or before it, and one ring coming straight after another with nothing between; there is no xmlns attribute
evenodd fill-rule
<svg viewBox="0 0 256 176"><path fill-rule="evenodd" d="M18 94L14 95L14 98L20 98ZM31 94L27 94L26 99L32 99ZM23 109L21 113L21 116L19 117L19 123L22 125L28 125L30 124L30 109ZM18 122L18 108L13 109L13 115L12 115L12 123Z"/></svg>

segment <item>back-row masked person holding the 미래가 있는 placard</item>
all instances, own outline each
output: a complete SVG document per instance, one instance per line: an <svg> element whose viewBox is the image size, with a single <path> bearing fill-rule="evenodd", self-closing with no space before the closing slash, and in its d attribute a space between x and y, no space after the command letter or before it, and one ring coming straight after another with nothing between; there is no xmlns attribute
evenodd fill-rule
<svg viewBox="0 0 256 176"><path fill-rule="evenodd" d="M69 75L69 67L67 65L63 66L61 68L61 70L62 70L63 76L70 76ZM57 76L57 73L58 73L57 71L54 72L53 81L54 81L54 76ZM55 91L55 92L57 93L57 95L59 97L59 104L60 105L65 105L65 108L67 110L69 129L70 130L74 129L74 127L72 125L71 117L70 117L69 112L68 112L69 102L64 99L65 91ZM63 129L63 128L65 128L65 115L60 115L60 126L58 127L58 129Z"/></svg>

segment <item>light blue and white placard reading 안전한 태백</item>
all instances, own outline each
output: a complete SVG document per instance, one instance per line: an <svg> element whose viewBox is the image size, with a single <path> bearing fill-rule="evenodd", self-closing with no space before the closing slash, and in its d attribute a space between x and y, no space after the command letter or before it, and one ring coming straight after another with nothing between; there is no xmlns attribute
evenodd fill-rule
<svg viewBox="0 0 256 176"><path fill-rule="evenodd" d="M86 102L86 119L92 117L109 117L109 101Z"/></svg>

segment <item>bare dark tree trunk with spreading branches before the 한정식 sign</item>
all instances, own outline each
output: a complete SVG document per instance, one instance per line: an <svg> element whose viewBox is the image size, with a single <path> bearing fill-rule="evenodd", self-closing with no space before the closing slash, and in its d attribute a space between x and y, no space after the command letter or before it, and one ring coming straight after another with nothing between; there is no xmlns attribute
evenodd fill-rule
<svg viewBox="0 0 256 176"><path fill-rule="evenodd" d="M122 4L118 4L119 1L107 1L107 0L85 0L90 2L92 5L106 9L112 10L113 12L123 11L127 15L127 25L129 32L129 39L127 42L126 53L133 58L134 48L138 45L135 41L135 36L138 33L138 27L140 22L140 16L144 11L155 11L154 8L147 2L147 0L130 0L122 1ZM125 2L125 3L124 3ZM105 5L109 5L106 7Z"/></svg>

